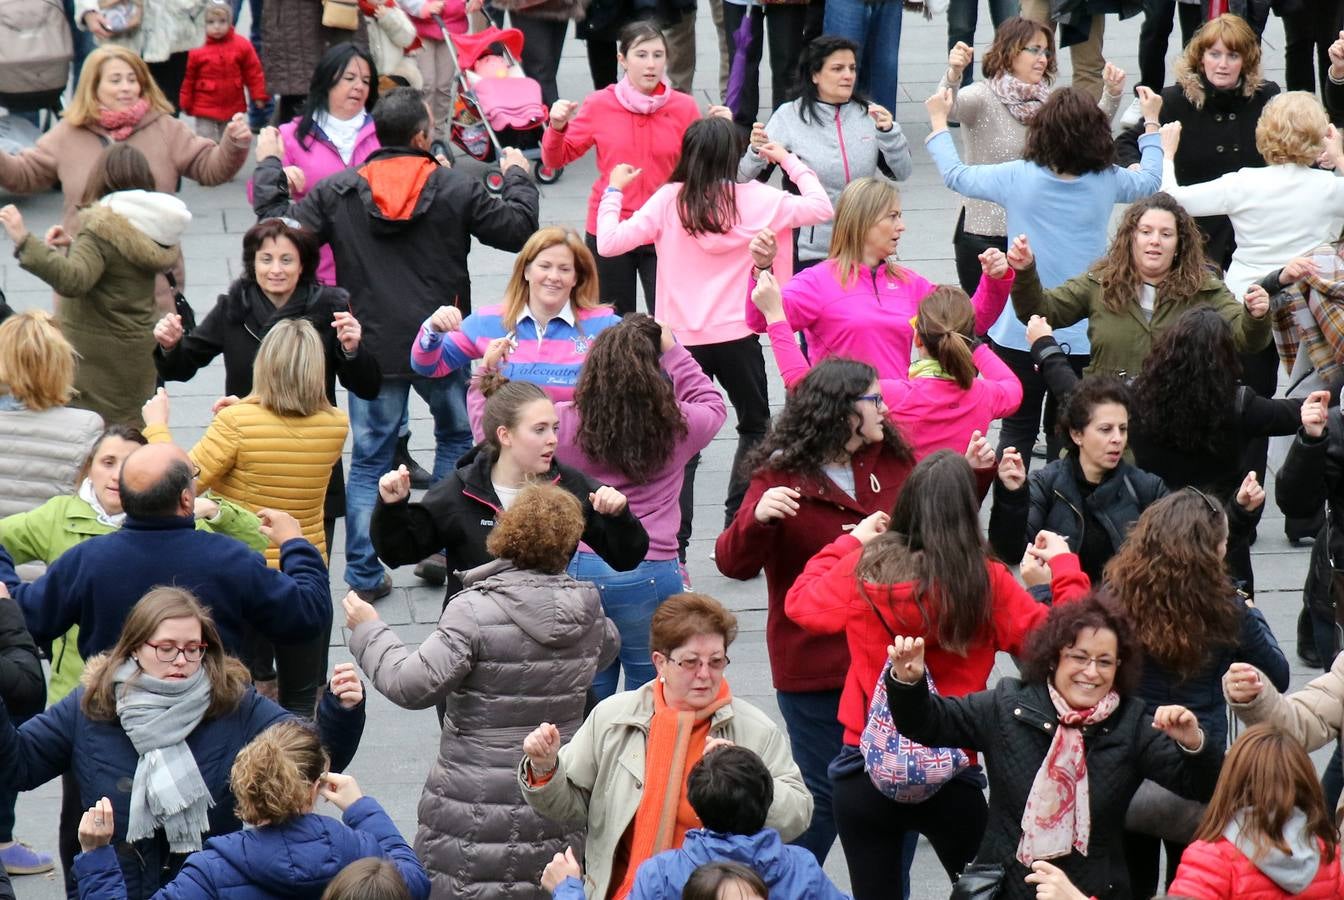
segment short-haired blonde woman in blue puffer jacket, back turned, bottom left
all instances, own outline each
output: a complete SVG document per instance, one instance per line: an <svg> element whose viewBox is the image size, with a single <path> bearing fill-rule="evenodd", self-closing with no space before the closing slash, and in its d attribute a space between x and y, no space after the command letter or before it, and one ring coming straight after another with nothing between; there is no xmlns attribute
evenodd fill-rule
<svg viewBox="0 0 1344 900"><path fill-rule="evenodd" d="M349 775L329 771L321 736L308 723L281 721L253 737L228 772L238 818L251 827L211 838L187 857L164 897L316 892L355 860L390 861L414 900L429 897L429 879L378 801ZM317 799L341 811L337 822L314 811ZM112 801L91 806L79 822L75 877L83 900L125 896L112 848Z"/></svg>

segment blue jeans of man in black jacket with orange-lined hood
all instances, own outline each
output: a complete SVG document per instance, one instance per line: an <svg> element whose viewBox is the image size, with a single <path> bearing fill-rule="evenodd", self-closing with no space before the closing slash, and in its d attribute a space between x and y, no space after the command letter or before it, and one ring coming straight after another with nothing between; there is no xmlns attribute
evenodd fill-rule
<svg viewBox="0 0 1344 900"><path fill-rule="evenodd" d="M434 416L434 481L449 474L472 449L465 368L439 379L384 377L375 400L349 395L353 449L345 478L345 583L355 590L375 588L383 580L383 566L368 539L368 523L378 502L378 480L392 467L396 433L411 388L429 403Z"/></svg>

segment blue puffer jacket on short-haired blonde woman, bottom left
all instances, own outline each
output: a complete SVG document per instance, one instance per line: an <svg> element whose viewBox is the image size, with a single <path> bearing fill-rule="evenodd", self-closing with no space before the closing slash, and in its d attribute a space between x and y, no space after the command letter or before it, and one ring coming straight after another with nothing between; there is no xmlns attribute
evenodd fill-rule
<svg viewBox="0 0 1344 900"><path fill-rule="evenodd" d="M411 900L429 896L429 876L372 797L362 797L341 825L309 813L292 822L212 837L192 853L155 900L270 900L323 896L327 883L355 860L386 857L402 873ZM347 827L348 826L348 827ZM81 900L125 900L117 854L98 848L75 857Z"/></svg>

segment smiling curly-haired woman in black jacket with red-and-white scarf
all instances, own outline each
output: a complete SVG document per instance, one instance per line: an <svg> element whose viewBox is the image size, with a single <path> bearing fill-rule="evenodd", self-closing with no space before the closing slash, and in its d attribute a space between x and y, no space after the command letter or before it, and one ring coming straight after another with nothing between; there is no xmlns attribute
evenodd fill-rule
<svg viewBox="0 0 1344 900"><path fill-rule="evenodd" d="M1133 627L1097 596L1056 606L1027 641L1021 678L964 697L929 689L926 638L898 635L887 649L900 733L984 754L989 810L974 864L1001 866L996 897L1036 897L1055 866L1078 887L1067 896L1142 896L1125 874L1130 799L1145 779L1192 801L1212 795L1223 746L1185 707L1149 713L1134 696L1144 653Z"/></svg>

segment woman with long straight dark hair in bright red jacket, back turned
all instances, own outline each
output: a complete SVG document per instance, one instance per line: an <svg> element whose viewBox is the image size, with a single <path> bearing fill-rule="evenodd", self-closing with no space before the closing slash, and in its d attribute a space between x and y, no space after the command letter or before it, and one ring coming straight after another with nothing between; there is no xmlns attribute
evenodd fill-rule
<svg viewBox="0 0 1344 900"><path fill-rule="evenodd" d="M1090 583L1058 535L1042 533L1035 559L1050 566L1056 604ZM992 559L980 529L970 465L939 450L914 467L890 517L874 513L808 561L785 596L789 618L808 631L844 634L849 666L839 717L844 747L831 763L840 844L856 900L899 896L892 856L907 831L933 844L956 880L985 826L984 775L968 767L921 802L898 802L870 779L859 750L868 708L896 634L922 634L938 693L984 690L995 653L1020 653L1047 607Z"/></svg>

